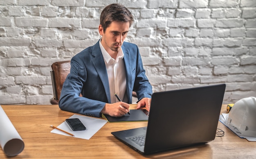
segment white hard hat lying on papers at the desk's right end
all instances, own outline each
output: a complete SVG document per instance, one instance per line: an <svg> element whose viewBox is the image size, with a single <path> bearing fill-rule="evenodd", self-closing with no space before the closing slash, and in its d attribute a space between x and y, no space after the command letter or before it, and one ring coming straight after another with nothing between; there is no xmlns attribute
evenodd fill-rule
<svg viewBox="0 0 256 159"><path fill-rule="evenodd" d="M256 98L238 100L229 111L228 122L243 135L256 137Z"/></svg>

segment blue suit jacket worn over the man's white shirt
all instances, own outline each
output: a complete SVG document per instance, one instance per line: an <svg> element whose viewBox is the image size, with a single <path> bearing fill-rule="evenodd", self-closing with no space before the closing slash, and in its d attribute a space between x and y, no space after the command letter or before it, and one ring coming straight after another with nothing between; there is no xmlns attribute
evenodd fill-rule
<svg viewBox="0 0 256 159"><path fill-rule="evenodd" d="M126 69L126 94L132 102L132 91L141 100L151 98L152 86L148 82L137 45L124 42L124 65ZM83 97L79 97L80 93ZM99 47L99 41L76 54L71 59L68 74L61 91L59 107L65 111L101 117L100 111L110 103L108 73Z"/></svg>

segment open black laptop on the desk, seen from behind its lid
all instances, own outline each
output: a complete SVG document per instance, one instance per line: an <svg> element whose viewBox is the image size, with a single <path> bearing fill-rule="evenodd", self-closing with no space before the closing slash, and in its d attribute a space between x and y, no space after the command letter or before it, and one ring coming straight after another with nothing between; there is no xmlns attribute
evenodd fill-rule
<svg viewBox="0 0 256 159"><path fill-rule="evenodd" d="M220 84L153 93L148 126L112 135L144 155L211 142L225 87Z"/></svg>

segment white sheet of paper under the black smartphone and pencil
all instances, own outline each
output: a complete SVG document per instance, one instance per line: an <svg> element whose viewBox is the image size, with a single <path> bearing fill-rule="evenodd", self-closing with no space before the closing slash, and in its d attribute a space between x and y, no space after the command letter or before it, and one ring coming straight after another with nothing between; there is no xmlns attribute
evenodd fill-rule
<svg viewBox="0 0 256 159"><path fill-rule="evenodd" d="M71 118L79 118L81 122L84 124L84 126L86 127L86 130L72 131L72 129L70 128L70 126L67 124L66 121L60 124L59 126L57 126L57 128L67 131L69 133L72 133L73 135L75 135L73 137L77 137L81 139L90 139L95 133L97 133L97 131L99 131L99 129L102 128L102 126L104 126L108 122L107 120L91 118L91 117L76 115L76 114L72 115L70 119ZM70 136L57 129L53 129L51 133Z"/></svg>

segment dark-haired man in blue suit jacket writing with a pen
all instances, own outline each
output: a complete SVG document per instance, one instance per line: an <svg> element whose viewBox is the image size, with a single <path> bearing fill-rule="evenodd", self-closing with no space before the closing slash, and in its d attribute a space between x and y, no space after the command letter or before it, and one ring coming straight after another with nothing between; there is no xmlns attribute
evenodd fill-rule
<svg viewBox="0 0 256 159"><path fill-rule="evenodd" d="M99 25L102 38L71 59L70 74L59 101L62 110L95 117L123 116L129 112L132 91L139 100L137 109L150 110L152 86L139 49L124 42L133 21L130 11L121 4L110 4L103 9Z"/></svg>

